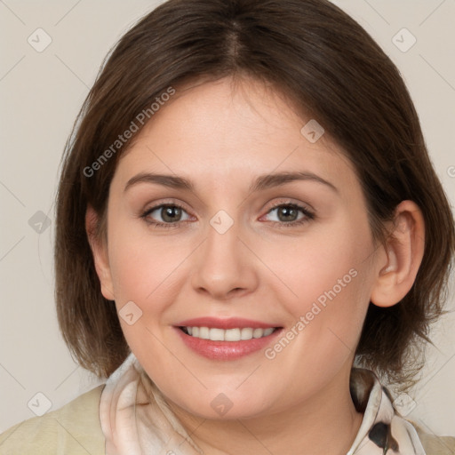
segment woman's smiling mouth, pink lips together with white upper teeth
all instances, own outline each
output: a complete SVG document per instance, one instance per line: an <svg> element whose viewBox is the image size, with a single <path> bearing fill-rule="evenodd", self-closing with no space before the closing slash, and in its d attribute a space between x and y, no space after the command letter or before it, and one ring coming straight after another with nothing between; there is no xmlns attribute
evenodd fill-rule
<svg viewBox="0 0 455 455"><path fill-rule="evenodd" d="M211 360L235 360L273 343L283 326L243 318L202 317L174 325L183 343Z"/></svg>

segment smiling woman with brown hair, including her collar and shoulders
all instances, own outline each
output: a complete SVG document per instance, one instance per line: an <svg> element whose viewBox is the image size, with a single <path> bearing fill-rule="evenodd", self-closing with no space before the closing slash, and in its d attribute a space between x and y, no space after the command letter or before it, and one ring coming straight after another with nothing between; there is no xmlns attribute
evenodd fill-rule
<svg viewBox="0 0 455 455"><path fill-rule="evenodd" d="M68 140L60 328L107 384L9 453L451 453L394 410L454 223L394 64L321 0L170 0Z"/></svg>

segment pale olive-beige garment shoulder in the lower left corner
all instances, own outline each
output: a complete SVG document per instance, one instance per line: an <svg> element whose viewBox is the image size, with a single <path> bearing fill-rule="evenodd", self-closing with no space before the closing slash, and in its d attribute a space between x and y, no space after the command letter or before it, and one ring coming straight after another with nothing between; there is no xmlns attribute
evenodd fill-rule
<svg viewBox="0 0 455 455"><path fill-rule="evenodd" d="M104 386L92 388L56 411L8 428L0 435L0 455L104 455L99 413Z"/></svg>

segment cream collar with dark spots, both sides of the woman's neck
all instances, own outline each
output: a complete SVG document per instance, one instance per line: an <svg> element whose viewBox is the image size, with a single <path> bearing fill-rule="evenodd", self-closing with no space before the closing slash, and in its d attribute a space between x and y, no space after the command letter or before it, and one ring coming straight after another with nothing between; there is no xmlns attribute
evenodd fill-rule
<svg viewBox="0 0 455 455"><path fill-rule="evenodd" d="M369 370L353 368L350 391L362 424L347 455L426 455L416 429L395 412L391 395ZM164 396L130 354L100 397L106 455L199 455Z"/></svg>

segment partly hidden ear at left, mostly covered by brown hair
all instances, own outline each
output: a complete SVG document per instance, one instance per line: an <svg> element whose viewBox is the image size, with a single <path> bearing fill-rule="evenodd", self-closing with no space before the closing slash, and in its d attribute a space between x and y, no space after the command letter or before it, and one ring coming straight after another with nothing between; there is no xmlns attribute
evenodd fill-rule
<svg viewBox="0 0 455 455"><path fill-rule="evenodd" d="M96 235L98 220L98 213L95 212L92 205L88 204L87 212L85 212L85 231L92 249L96 273L100 278L101 293L105 299L114 300L114 292L112 291L114 288L108 259L108 244L104 238L99 238Z"/></svg>

